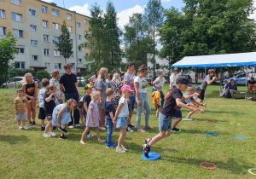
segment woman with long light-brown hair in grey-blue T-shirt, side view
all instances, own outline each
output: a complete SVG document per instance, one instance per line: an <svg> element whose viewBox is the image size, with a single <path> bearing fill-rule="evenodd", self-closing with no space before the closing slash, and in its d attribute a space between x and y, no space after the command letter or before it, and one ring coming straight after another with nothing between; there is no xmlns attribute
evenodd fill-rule
<svg viewBox="0 0 256 179"><path fill-rule="evenodd" d="M107 74L108 74L108 69L105 67L102 67L99 71L99 76L96 80L96 84L95 84L95 90L99 91L100 93L100 100L99 100L99 104L98 104L98 108L99 108L99 118L100 118L100 130L106 130L106 128L104 128L104 124L105 124L105 101L106 101L106 90L107 90L107 84L106 84L106 78L107 78Z"/></svg>

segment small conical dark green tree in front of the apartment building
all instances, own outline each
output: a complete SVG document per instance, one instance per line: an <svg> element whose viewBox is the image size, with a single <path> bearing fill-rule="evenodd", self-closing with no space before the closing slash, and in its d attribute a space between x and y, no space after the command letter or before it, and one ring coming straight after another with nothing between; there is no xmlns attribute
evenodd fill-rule
<svg viewBox="0 0 256 179"><path fill-rule="evenodd" d="M67 30L67 23L65 20L63 20L63 24L61 25L61 35L59 37L59 42L54 40L53 43L55 43L56 48L64 57L65 63L67 63L67 59L73 54L73 43L71 42L70 32Z"/></svg>

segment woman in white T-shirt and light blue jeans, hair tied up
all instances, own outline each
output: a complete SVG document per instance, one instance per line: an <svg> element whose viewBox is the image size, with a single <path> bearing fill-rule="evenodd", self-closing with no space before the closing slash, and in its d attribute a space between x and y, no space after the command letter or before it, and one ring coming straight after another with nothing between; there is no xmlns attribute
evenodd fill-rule
<svg viewBox="0 0 256 179"><path fill-rule="evenodd" d="M152 127L148 124L149 114L151 109L148 103L148 93L147 93L147 83L144 77L148 74L148 68L143 65L139 67L138 75L134 79L135 92L137 98L137 131L145 132L141 126L141 118L143 113L143 108L145 108L145 129L151 129Z"/></svg>

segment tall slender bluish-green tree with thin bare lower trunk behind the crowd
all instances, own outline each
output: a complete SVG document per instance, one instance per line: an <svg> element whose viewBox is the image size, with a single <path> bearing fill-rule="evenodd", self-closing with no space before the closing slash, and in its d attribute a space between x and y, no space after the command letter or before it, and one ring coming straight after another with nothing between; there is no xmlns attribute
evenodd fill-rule
<svg viewBox="0 0 256 179"><path fill-rule="evenodd" d="M148 24L149 32L153 38L153 46L155 49L156 46L156 29L160 28L163 24L164 16L163 16L163 7L161 5L160 0L149 0L147 4L147 8L145 9L144 18ZM153 63L153 72L155 78L155 58L154 55L156 54L156 50L153 51L153 59L150 61Z"/></svg>

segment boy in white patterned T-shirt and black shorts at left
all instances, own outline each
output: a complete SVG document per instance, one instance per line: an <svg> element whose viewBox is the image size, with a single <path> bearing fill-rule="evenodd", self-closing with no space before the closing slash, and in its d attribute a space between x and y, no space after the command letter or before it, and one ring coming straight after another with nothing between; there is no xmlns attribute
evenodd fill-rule
<svg viewBox="0 0 256 179"><path fill-rule="evenodd" d="M39 93L38 93L38 100L39 100L38 118L41 119L41 131L44 131L45 130L45 127L44 127L44 119L45 119L44 93L46 91L46 88L49 86L49 79L43 78L41 81L41 85L43 86L43 89L39 90Z"/></svg>

